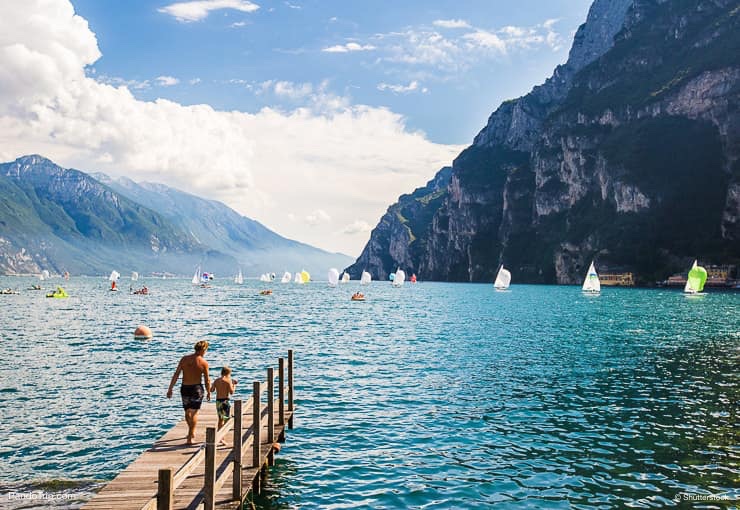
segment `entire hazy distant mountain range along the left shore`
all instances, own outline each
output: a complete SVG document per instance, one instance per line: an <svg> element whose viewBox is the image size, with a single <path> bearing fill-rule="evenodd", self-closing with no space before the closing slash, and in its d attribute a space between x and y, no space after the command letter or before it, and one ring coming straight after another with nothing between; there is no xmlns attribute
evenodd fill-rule
<svg viewBox="0 0 740 510"><path fill-rule="evenodd" d="M0 164L0 273L137 271L217 275L306 269L351 258L286 239L226 205L162 184L62 168L38 155Z"/></svg>

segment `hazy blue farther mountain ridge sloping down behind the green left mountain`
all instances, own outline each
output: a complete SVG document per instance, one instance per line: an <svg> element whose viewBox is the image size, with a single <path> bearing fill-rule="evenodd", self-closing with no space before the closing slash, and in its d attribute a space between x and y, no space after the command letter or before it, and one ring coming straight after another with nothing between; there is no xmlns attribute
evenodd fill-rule
<svg viewBox="0 0 740 510"><path fill-rule="evenodd" d="M121 195L161 214L199 243L230 255L246 274L267 271L282 274L305 268L323 275L329 267L343 267L351 262L347 255L286 239L221 202L163 184L136 183L125 177L113 179L100 173L93 176Z"/></svg>

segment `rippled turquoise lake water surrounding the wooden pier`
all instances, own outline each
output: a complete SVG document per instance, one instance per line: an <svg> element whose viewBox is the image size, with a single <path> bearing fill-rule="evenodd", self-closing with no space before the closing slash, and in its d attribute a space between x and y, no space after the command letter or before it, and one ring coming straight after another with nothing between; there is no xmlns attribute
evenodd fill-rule
<svg viewBox="0 0 740 510"><path fill-rule="evenodd" d="M0 295L0 493L61 480L88 497L181 418L164 395L204 338L244 398L295 352L295 429L262 508L740 497L739 294L373 282L357 303L356 282L263 297L256 281L146 280L136 296L73 278L45 299L31 283L0 278L21 290ZM133 339L139 323L153 340Z"/></svg>

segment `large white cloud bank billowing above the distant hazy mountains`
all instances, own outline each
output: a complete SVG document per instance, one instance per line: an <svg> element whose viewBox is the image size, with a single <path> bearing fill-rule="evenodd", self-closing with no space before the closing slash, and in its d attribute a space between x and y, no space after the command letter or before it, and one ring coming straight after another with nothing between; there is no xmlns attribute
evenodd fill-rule
<svg viewBox="0 0 740 510"><path fill-rule="evenodd" d="M292 111L140 101L123 84L85 74L100 52L67 0L0 2L0 19L4 160L39 153L68 167L163 182L221 200L288 237L358 255L366 238L341 233L347 211L380 218L461 150L321 84L308 106ZM324 217L318 208L329 220L307 229L307 217Z"/></svg>

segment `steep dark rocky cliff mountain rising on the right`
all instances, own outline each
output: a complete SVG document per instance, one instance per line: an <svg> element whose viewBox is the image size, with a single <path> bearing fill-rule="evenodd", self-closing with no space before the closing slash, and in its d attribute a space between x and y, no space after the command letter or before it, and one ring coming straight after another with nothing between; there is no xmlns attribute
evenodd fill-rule
<svg viewBox="0 0 740 510"><path fill-rule="evenodd" d="M348 271L576 283L596 259L651 283L738 263L739 104L736 1L596 0L568 61L389 207Z"/></svg>

